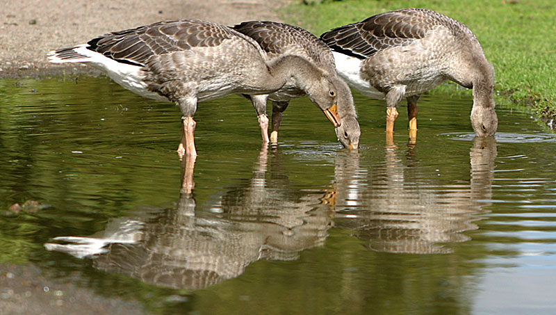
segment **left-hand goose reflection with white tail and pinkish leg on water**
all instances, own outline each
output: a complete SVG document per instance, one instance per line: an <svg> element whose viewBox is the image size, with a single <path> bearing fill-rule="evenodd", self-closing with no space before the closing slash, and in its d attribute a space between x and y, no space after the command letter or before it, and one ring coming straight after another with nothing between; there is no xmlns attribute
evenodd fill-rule
<svg viewBox="0 0 556 315"><path fill-rule="evenodd" d="M195 159L185 159L177 207L150 217L116 218L99 234L58 237L45 247L172 289L218 284L259 259L297 259L300 251L324 243L331 209L320 202L322 193L295 188L280 168L282 157L263 147L252 177L213 196L211 211L199 213Z"/></svg>

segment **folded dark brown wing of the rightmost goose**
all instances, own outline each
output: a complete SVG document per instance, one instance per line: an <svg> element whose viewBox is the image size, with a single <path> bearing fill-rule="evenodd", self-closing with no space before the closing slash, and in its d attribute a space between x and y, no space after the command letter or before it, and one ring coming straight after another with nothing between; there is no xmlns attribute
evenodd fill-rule
<svg viewBox="0 0 556 315"><path fill-rule="evenodd" d="M320 35L332 50L365 59L377 51L407 46L425 37L436 25L455 31L454 20L432 10L406 8L373 15Z"/></svg>

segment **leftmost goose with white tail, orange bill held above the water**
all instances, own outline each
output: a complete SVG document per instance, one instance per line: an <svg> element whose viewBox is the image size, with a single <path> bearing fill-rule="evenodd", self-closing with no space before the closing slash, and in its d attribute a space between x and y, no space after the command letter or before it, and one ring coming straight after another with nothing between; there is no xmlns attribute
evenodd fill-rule
<svg viewBox="0 0 556 315"><path fill-rule="evenodd" d="M334 127L341 124L336 87L327 74L297 56L268 62L252 38L212 22L181 19L115 31L50 51L49 61L85 63L138 95L176 103L183 115L180 158L197 156L197 102L230 94L268 94L291 78Z"/></svg>

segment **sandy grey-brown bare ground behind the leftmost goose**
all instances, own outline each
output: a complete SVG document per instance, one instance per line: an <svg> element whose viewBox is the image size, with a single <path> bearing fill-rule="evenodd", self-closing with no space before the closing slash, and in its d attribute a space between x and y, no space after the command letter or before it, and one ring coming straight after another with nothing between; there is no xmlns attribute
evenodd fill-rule
<svg viewBox="0 0 556 315"><path fill-rule="evenodd" d="M286 0L5 0L0 8L0 78L92 71L53 65L47 52L87 42L111 31L170 19L204 19L233 25L278 21Z"/></svg>

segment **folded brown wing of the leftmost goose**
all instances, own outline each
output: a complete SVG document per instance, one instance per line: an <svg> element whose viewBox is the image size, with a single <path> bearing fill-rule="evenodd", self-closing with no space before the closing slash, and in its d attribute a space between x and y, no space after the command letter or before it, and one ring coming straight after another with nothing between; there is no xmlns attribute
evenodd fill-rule
<svg viewBox="0 0 556 315"><path fill-rule="evenodd" d="M144 66L151 56L215 47L238 35L244 37L227 26L184 19L108 33L90 40L88 49L122 63Z"/></svg>

